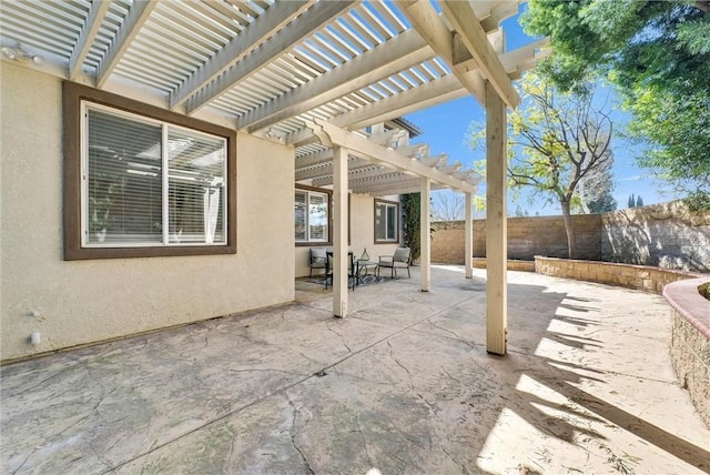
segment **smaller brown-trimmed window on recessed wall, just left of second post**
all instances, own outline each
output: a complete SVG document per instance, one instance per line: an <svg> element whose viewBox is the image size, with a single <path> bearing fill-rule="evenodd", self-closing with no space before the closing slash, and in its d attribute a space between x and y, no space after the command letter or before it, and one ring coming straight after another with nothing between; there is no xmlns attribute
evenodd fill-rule
<svg viewBox="0 0 710 475"><path fill-rule="evenodd" d="M296 189L294 195L296 243L327 243L331 240L331 194Z"/></svg>

